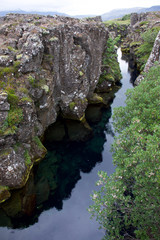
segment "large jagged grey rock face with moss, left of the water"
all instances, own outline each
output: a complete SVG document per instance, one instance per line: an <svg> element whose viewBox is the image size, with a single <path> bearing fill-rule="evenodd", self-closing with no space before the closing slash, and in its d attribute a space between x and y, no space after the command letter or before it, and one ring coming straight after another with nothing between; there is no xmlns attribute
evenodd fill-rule
<svg viewBox="0 0 160 240"><path fill-rule="evenodd" d="M0 185L25 182L33 160L45 153L35 136L59 112L83 117L108 38L98 20L18 14L0 19Z"/></svg>

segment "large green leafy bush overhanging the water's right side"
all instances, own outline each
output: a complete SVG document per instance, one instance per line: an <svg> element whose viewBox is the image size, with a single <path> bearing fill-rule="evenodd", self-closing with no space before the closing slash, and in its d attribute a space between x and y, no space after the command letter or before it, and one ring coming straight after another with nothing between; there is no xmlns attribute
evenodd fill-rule
<svg viewBox="0 0 160 240"><path fill-rule="evenodd" d="M160 66L127 92L125 107L114 111L111 176L101 185L89 211L106 230L104 239L160 239ZM130 238L129 238L130 237Z"/></svg>

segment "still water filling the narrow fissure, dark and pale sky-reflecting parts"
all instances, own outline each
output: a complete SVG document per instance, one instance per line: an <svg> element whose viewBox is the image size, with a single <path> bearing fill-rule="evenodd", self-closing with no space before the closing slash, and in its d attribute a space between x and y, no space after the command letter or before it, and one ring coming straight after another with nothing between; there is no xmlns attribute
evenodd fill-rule
<svg viewBox="0 0 160 240"><path fill-rule="evenodd" d="M0 212L0 225L4 226L0 227L0 240L100 240L104 236L98 223L90 219L87 208L92 204L90 194L96 189L97 172L114 172L110 152L114 136L112 112L114 107L125 105L124 93L133 87L134 72L128 71L120 49L118 59L122 87L110 107L99 109L101 121L90 122L93 137L84 143L46 143L49 153L29 183L30 191L37 194L34 215L19 216L17 220L13 216L2 218L4 212Z"/></svg>

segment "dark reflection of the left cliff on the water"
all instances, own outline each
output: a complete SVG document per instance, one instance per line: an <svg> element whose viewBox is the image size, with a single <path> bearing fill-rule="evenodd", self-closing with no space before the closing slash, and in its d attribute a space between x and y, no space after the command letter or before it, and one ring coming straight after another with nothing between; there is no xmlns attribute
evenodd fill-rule
<svg viewBox="0 0 160 240"><path fill-rule="evenodd" d="M24 228L37 222L44 210L53 207L63 209L63 201L70 198L81 179L81 172L89 173L97 163L102 162L111 108L90 106L86 116L92 127L92 137L85 142L69 141L68 137L61 142L53 142L50 138L45 141L47 156L35 167L25 188L13 191L11 199L2 204L1 226ZM78 127L77 122L77 130Z"/></svg>

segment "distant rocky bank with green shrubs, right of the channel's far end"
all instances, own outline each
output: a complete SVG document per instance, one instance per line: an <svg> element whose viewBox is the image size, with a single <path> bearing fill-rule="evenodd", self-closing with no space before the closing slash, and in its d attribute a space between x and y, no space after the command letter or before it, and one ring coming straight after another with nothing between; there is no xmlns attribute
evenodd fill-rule
<svg viewBox="0 0 160 240"><path fill-rule="evenodd" d="M131 24L122 51L134 56L140 72L144 70L159 30L160 12L131 14Z"/></svg>

